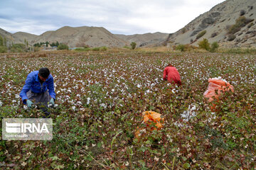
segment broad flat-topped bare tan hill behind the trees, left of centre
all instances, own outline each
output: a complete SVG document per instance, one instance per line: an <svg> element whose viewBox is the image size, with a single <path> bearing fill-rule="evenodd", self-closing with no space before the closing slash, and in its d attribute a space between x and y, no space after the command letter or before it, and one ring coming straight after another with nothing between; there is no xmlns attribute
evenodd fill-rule
<svg viewBox="0 0 256 170"><path fill-rule="evenodd" d="M90 47L123 47L127 42L117 38L102 27L68 27L65 26L55 31L47 31L31 41L36 42L63 42L69 47L89 45Z"/></svg>

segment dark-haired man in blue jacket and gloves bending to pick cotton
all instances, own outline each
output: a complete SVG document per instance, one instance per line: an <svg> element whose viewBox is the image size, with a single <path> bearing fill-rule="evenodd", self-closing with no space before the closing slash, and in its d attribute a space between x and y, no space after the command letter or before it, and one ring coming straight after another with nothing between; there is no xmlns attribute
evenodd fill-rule
<svg viewBox="0 0 256 170"><path fill-rule="evenodd" d="M50 75L49 69L41 68L39 71L28 74L20 96L23 103L26 104L28 108L36 104L45 114L43 118L48 117L50 115L48 102L50 105L54 106L55 101L53 77Z"/></svg>

